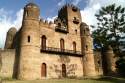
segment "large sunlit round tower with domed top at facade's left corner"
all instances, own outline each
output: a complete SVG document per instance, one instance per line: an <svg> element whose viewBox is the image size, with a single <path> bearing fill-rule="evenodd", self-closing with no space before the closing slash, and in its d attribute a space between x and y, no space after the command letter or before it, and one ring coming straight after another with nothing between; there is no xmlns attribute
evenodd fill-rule
<svg viewBox="0 0 125 83"><path fill-rule="evenodd" d="M38 79L38 55L40 52L39 7L29 3L24 7L21 27L20 61L18 79Z"/></svg>

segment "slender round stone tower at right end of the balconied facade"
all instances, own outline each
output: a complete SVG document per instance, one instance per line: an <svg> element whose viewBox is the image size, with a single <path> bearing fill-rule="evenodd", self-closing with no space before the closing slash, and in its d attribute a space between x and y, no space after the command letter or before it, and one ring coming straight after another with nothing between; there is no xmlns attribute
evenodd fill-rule
<svg viewBox="0 0 125 83"><path fill-rule="evenodd" d="M83 54L83 72L84 76L95 76L95 64L93 56L93 42L89 27L85 23L80 25L81 45Z"/></svg>

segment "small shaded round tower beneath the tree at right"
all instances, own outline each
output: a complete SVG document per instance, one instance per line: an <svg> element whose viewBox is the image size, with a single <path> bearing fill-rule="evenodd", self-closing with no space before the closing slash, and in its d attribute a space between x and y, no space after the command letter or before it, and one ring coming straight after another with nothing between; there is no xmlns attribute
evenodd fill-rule
<svg viewBox="0 0 125 83"><path fill-rule="evenodd" d="M111 46L108 47L106 53L106 62L107 62L107 75L112 75L116 73L116 58Z"/></svg>

